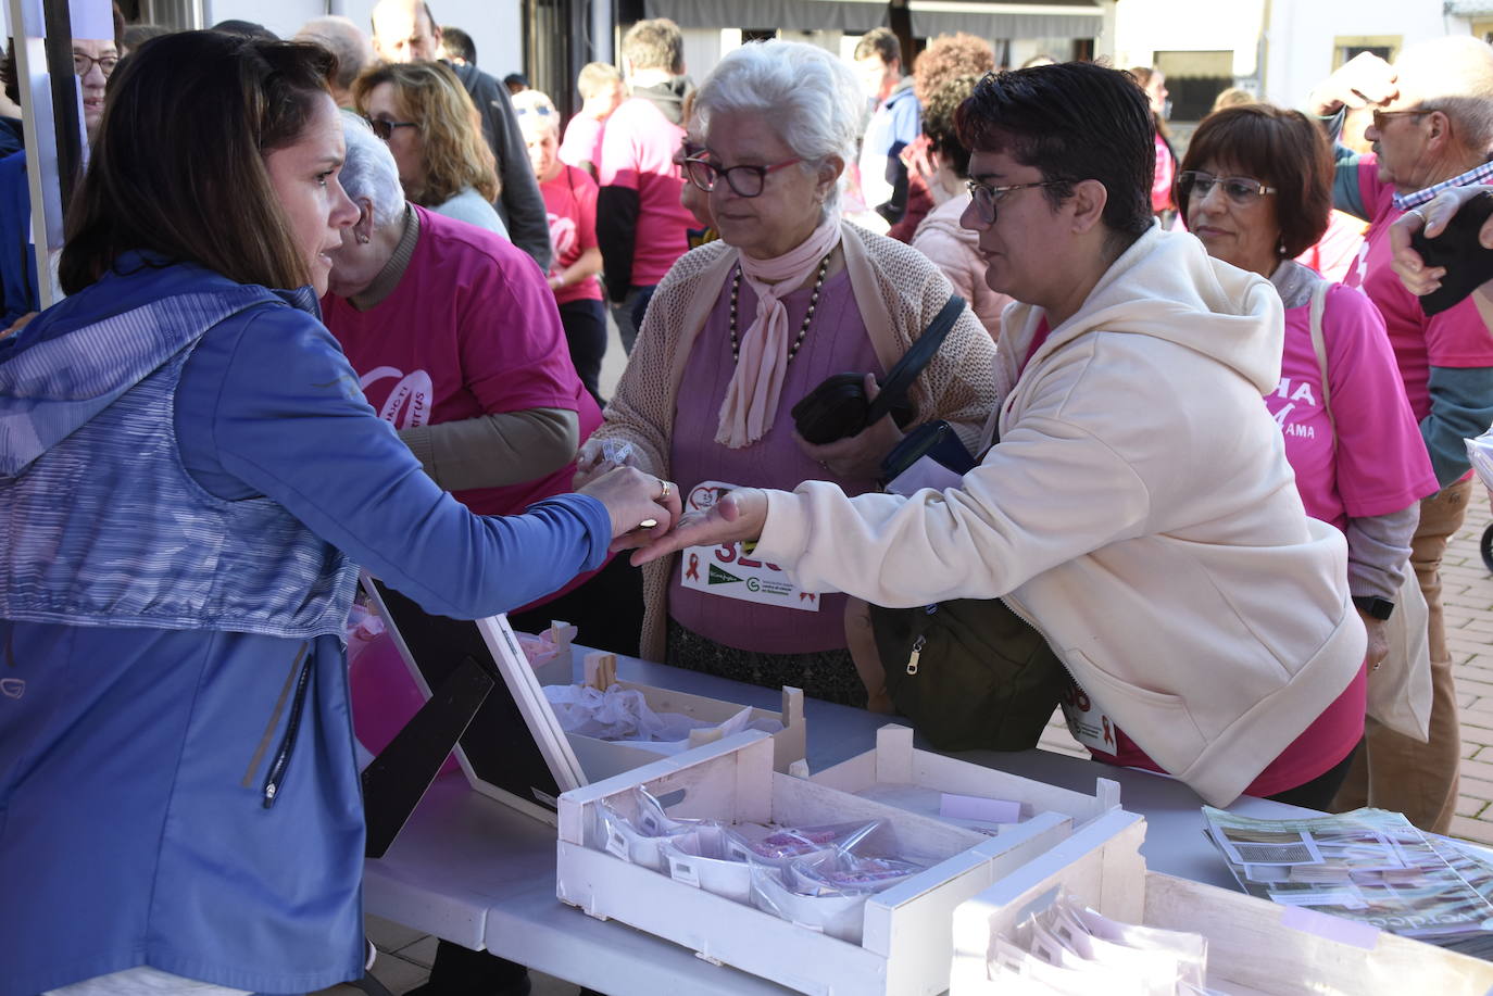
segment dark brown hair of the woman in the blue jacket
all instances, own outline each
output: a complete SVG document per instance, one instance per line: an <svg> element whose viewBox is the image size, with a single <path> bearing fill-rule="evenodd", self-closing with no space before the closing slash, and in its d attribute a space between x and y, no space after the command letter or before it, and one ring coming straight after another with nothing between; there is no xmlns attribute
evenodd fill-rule
<svg viewBox="0 0 1493 996"><path fill-rule="evenodd" d="M320 45L221 31L142 45L109 78L88 172L67 212L63 290L76 294L130 249L239 284L306 284L264 155L305 131L334 67Z"/></svg>

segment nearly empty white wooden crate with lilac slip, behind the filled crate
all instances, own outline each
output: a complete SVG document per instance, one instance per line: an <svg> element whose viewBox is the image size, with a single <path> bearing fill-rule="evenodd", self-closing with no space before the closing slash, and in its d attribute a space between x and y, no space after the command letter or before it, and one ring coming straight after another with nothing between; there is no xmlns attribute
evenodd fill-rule
<svg viewBox="0 0 1493 996"><path fill-rule="evenodd" d="M1073 818L1075 827L1120 808L1120 784L1108 778L1094 779L1091 796L1048 785L920 751L912 747L912 730L894 723L876 730L875 750L826 768L809 781L930 817L938 815L945 793L1020 802L1023 818L1062 812Z"/></svg>

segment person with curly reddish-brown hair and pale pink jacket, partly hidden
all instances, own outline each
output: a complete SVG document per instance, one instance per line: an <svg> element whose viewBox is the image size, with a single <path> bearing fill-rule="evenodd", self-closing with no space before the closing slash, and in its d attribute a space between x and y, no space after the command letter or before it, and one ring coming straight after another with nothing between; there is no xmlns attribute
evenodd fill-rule
<svg viewBox="0 0 1493 996"><path fill-rule="evenodd" d="M929 137L929 158L938 167L929 190L938 208L918 225L912 248L929 257L954 291L969 302L991 340L1000 339L1000 312L1009 294L985 282L985 258L979 254L979 233L959 224L969 209L969 149L954 128L954 112L975 93L978 76L947 81L923 105L923 133Z"/></svg>

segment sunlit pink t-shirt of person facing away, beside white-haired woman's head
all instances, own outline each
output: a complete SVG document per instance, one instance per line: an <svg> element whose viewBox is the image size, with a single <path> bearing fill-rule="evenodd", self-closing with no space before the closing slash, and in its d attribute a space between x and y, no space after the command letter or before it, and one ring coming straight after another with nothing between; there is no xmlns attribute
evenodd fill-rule
<svg viewBox="0 0 1493 996"><path fill-rule="evenodd" d="M661 281L675 260L688 251L690 228L699 225L679 203L684 178L673 154L681 140L684 128L664 118L643 97L623 102L602 130L597 184L638 191L632 276L636 287Z"/></svg>

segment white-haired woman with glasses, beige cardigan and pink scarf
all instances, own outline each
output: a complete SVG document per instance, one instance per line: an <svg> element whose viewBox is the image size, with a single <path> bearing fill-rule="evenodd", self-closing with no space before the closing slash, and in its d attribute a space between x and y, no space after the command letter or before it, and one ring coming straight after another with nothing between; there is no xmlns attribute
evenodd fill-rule
<svg viewBox="0 0 1493 996"><path fill-rule="evenodd" d="M794 430L790 409L826 378L854 370L875 394L951 294L927 258L839 217L863 103L848 66L797 42L745 45L705 79L684 163L721 240L658 285L578 482L627 461L678 481L694 508L806 478L858 494L903 429L947 420L975 443L996 397L994 346L967 308L914 385L905 426L885 417L827 445ZM735 547L651 564L643 656L864 703L845 597L781 576Z"/></svg>

